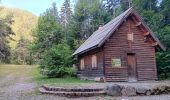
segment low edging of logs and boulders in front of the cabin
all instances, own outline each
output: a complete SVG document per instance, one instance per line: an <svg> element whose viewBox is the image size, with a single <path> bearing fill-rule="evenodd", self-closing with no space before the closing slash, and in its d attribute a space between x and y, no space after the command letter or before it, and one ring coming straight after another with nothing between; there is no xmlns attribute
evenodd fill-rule
<svg viewBox="0 0 170 100"><path fill-rule="evenodd" d="M154 87L142 86L122 86L111 84L106 88L64 88L64 87L51 87L42 86L39 91L43 94L55 94L66 97L90 97L107 94L110 96L149 96L170 94L170 86L157 85Z"/></svg>

